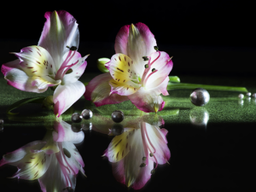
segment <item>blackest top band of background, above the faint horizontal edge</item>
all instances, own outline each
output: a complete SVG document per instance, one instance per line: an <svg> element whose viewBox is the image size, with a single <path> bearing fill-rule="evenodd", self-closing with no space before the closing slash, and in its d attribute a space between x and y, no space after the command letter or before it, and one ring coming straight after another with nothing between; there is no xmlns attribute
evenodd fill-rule
<svg viewBox="0 0 256 192"><path fill-rule="evenodd" d="M255 47L255 1L34 1L4 3L1 38L38 39L45 11L64 9L81 41L113 42L119 28L143 22L159 44ZM6 9L6 11L4 11Z"/></svg>

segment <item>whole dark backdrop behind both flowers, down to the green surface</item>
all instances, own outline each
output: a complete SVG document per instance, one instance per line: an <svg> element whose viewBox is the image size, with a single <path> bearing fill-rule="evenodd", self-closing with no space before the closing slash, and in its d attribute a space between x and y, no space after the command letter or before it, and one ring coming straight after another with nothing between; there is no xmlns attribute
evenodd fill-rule
<svg viewBox="0 0 256 192"><path fill-rule="evenodd" d="M97 56L110 57L114 53L113 42L119 28L140 21L149 26L160 49L174 56L174 73L231 75L243 72L243 75L247 75L247 73L253 74L253 58L256 50L255 1L248 2L236 0L8 2L1 6L0 40L5 42L6 46L9 46L9 39L32 40L37 43L44 26L45 11L65 9L78 20L81 41L79 49L85 49L82 55L90 52L88 61L95 62ZM105 43L110 43L111 46L106 47ZM19 51L22 47L8 48L4 49L1 55L8 55L10 51ZM112 52L100 54L97 48L109 49ZM9 61L9 58L6 58L7 60ZM90 69L95 70L93 67L88 67L88 70Z"/></svg>

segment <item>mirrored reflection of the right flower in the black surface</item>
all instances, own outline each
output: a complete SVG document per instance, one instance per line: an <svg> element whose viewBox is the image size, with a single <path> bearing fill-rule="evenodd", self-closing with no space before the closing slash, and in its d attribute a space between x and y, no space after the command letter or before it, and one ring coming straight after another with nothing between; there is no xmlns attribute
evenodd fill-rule
<svg viewBox="0 0 256 192"><path fill-rule="evenodd" d="M142 121L113 137L104 156L113 163L114 177L133 189L143 188L158 164L166 164L171 157L166 133Z"/></svg>

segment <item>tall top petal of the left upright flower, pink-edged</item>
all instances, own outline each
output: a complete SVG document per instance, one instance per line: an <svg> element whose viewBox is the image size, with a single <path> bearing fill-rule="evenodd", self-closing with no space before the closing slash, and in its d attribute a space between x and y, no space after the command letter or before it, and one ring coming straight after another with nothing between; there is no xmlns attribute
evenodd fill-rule
<svg viewBox="0 0 256 192"><path fill-rule="evenodd" d="M62 63L61 55L64 55L69 47L79 47L79 28L76 20L67 11L54 11L45 13L44 29L38 45L44 47L53 55L56 67Z"/></svg>

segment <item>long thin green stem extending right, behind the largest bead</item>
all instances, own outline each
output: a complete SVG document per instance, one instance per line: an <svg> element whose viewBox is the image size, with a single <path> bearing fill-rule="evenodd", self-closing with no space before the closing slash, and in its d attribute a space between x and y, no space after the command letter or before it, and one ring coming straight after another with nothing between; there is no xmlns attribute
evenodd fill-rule
<svg viewBox="0 0 256 192"><path fill-rule="evenodd" d="M196 88L203 88L206 90L226 90L226 91L238 91L248 92L245 87L232 87L210 84L185 84L185 83L171 83L167 85L167 90L194 90Z"/></svg>

